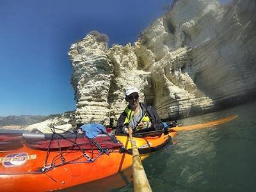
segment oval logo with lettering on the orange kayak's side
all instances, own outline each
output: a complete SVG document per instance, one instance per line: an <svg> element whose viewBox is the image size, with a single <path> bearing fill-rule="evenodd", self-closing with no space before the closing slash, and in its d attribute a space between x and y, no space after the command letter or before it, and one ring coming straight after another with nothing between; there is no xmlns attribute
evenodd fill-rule
<svg viewBox="0 0 256 192"><path fill-rule="evenodd" d="M0 157L0 163L3 163L3 166L5 167L20 166L31 159L36 159L36 154L35 155L28 155L27 153L8 154L5 157Z"/></svg>

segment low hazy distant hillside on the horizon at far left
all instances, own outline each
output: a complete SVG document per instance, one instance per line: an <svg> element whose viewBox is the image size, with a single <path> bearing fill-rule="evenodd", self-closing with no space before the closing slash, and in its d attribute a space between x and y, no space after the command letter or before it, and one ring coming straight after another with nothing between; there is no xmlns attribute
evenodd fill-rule
<svg viewBox="0 0 256 192"><path fill-rule="evenodd" d="M0 125L30 125L42 122L47 119L47 116L43 115L10 115L10 116L1 116Z"/></svg>

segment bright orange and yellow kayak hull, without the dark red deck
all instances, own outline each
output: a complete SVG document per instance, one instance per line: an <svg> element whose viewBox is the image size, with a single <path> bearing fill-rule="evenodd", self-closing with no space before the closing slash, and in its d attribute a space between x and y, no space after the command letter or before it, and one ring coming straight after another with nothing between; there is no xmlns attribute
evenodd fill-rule
<svg viewBox="0 0 256 192"><path fill-rule="evenodd" d="M149 152L158 150L168 143L175 132L159 136L134 138L141 154L141 159L148 157ZM68 150L63 159L60 152L54 150L47 154L46 150L29 148L26 143L14 150L0 150L0 186L1 191L52 191L70 188L80 184L109 177L132 166L131 143L127 136L116 136L123 143L125 152L113 149L100 154L97 150L86 150L86 154L95 158L94 161L85 161L86 158L77 159L80 150ZM51 166L45 158L52 160L57 166ZM16 158L16 159L15 159ZM17 161L22 159L22 161ZM14 163L13 163L14 162ZM67 163L69 162L69 163ZM8 164L9 163L9 164ZM62 163L62 164L61 164ZM11 165L10 165L11 164ZM60 164L60 166L58 166ZM44 167L44 171L42 170Z"/></svg>

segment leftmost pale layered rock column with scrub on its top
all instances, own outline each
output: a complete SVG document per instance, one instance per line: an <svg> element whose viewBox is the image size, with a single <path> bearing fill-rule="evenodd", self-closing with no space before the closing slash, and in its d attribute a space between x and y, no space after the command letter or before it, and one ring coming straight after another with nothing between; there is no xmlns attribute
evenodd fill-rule
<svg viewBox="0 0 256 192"><path fill-rule="evenodd" d="M77 102L77 116L92 122L109 119L108 94L113 66L109 64L106 42L98 41L97 34L88 35L70 47L73 74L72 86Z"/></svg>

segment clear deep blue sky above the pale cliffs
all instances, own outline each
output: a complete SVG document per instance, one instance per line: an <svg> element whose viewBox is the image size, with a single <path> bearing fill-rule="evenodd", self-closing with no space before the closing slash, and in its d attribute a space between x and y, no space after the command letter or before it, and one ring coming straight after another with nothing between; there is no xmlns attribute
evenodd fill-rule
<svg viewBox="0 0 256 192"><path fill-rule="evenodd" d="M0 116L76 109L70 45L93 30L109 36L109 47L132 43L171 2L1 0Z"/></svg>

